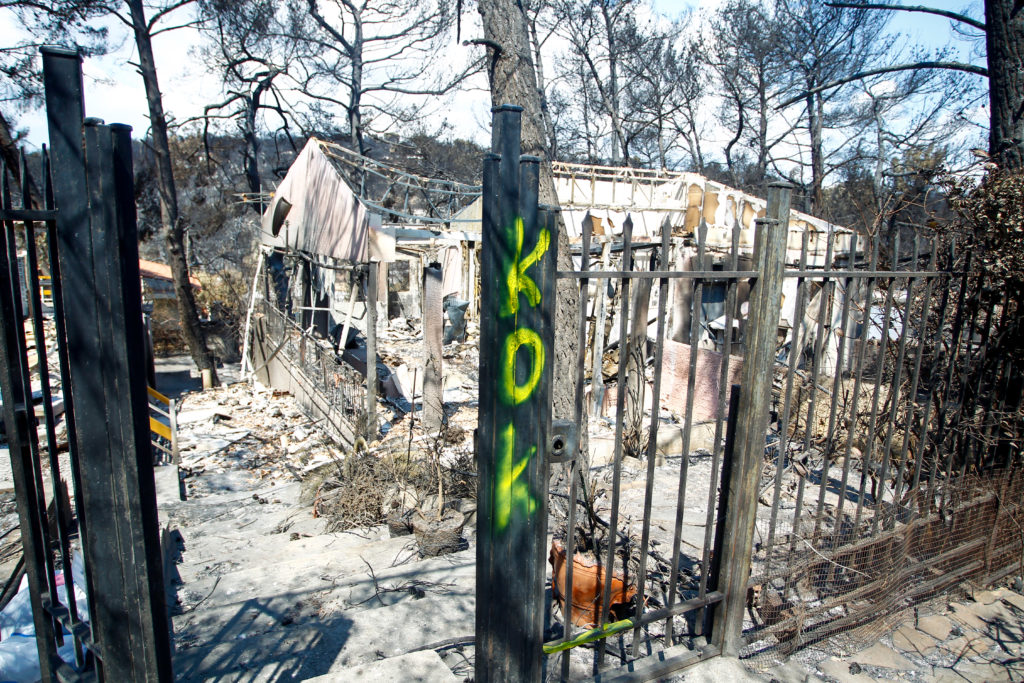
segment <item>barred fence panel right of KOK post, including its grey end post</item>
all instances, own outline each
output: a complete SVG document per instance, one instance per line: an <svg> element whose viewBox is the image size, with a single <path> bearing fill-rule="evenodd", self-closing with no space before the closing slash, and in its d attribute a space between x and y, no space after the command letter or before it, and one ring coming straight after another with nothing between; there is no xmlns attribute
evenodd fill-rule
<svg viewBox="0 0 1024 683"><path fill-rule="evenodd" d="M652 243L634 242L628 219L621 236L596 247L587 218L580 269L558 273L580 282L577 424L587 425L594 407L592 460L573 464L566 479L564 500L578 505L556 503L561 514L552 516L552 593L562 633L545 651L565 652L563 679L588 668L596 673L611 664L609 652L630 675L656 677L736 649L730 636L742 602L730 595L744 592L737 588L749 557L742 538L752 531L741 485L750 468L741 463L764 451L757 425L767 423L770 385L761 368L776 350L788 190L773 188L768 211L773 219L757 225L753 261L740 248L739 225L721 245L710 244L702 224L687 238L673 234L666 220ZM680 249L693 252L698 269L672 269ZM592 265L597 253L601 269ZM753 268L741 270L741 260ZM685 298L673 287L678 282L687 285ZM719 300L725 332L716 343L717 318L707 304ZM673 315L688 309L682 340L670 337L670 303ZM736 334L740 318L743 336ZM588 380L607 397L587 398ZM736 381L743 390L730 391ZM605 408L613 417L602 438ZM588 471L597 474L588 480ZM595 648L590 664L569 654L588 643Z"/></svg>

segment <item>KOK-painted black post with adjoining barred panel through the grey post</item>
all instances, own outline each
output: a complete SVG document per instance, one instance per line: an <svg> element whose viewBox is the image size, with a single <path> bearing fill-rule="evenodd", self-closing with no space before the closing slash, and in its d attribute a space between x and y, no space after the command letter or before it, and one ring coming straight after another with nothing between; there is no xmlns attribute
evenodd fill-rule
<svg viewBox="0 0 1024 683"><path fill-rule="evenodd" d="M738 225L724 244L719 236L715 255L701 226L687 245L698 266L683 270L670 259L683 240L668 220L656 242L634 241L627 219L621 237L598 246L588 216L579 266L556 272L556 216L538 208L539 160L519 156L519 108L496 110L501 154L484 162L483 174L476 678L653 678L736 653L754 531L749 492L766 447L790 190L770 188L768 216L746 249L753 260L741 256L750 231ZM579 284L575 414L563 420L550 410L553 356L564 343L554 324L556 280ZM669 292L677 283L697 302L686 323L688 344L667 340ZM738 326L741 285L749 312ZM620 304L606 330L609 297ZM652 297L657 314L649 321ZM720 352L699 348L712 322L702 304L716 298L725 311ZM592 313L600 324L590 332ZM733 355L737 346L742 359ZM614 400L601 396L608 348L617 353ZM595 370L588 389L589 349ZM668 354L679 371L671 378L663 373ZM663 395L667 379L673 400ZM735 382L742 389L730 391ZM600 422L604 404L614 413L607 459L586 463L585 454L600 453L588 444L596 438L588 419ZM693 458L697 414L707 449ZM670 428L678 439L659 443ZM591 480L594 470L599 475ZM553 488L552 471L561 474ZM687 528L693 523L696 536ZM554 608L545 597L549 564ZM593 649L592 661L573 656L583 646ZM620 668L605 671L612 664Z"/></svg>

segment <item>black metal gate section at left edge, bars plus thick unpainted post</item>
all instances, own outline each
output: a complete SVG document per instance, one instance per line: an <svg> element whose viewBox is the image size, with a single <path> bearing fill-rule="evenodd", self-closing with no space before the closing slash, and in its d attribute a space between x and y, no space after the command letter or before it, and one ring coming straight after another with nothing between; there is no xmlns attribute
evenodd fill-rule
<svg viewBox="0 0 1024 683"><path fill-rule="evenodd" d="M0 389L40 674L170 680L131 129L83 118L77 52L43 48L43 67L41 183L23 157L20 206L9 169L0 205Z"/></svg>

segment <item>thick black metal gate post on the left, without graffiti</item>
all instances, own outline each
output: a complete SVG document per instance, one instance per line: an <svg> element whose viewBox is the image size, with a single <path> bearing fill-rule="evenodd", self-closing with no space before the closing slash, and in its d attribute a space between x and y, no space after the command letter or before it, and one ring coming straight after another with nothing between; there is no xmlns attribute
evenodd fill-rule
<svg viewBox="0 0 1024 683"><path fill-rule="evenodd" d="M102 680L169 681L130 128L83 120L77 52L43 70L92 640Z"/></svg>

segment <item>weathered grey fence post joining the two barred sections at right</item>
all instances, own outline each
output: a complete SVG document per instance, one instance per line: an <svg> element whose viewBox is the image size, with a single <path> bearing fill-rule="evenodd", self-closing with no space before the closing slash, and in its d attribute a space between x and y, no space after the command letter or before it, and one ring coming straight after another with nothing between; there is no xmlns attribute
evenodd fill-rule
<svg viewBox="0 0 1024 683"><path fill-rule="evenodd" d="M778 340L782 266L790 228L787 183L768 186L767 219L758 222L755 236L755 269L760 273L751 292L746 326L741 394L736 421L736 453L728 482L729 508L724 522L722 575L717 582L725 594L715 610L713 644L726 654L737 655L742 646L743 606L751 572L751 548L758 511L758 481L765 453L768 408L771 403L775 347Z"/></svg>

